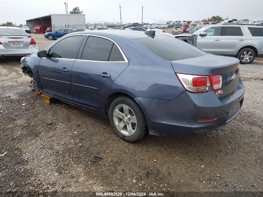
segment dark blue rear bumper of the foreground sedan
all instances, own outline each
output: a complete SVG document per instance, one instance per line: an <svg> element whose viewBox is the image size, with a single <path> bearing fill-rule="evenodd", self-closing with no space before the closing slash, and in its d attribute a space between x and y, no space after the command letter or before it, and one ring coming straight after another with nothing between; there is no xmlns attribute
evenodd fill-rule
<svg viewBox="0 0 263 197"><path fill-rule="evenodd" d="M232 121L240 112L244 85L239 80L232 97L219 100L214 91L190 93L185 91L172 101L137 97L152 135L176 137L218 128ZM199 121L216 117L215 120Z"/></svg>

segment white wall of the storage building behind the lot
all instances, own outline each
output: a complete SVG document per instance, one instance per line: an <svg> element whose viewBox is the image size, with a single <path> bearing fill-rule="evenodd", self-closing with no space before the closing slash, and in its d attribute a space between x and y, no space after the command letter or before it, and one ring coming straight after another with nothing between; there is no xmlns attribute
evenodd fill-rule
<svg viewBox="0 0 263 197"><path fill-rule="evenodd" d="M51 14L52 30L61 28L86 29L85 14Z"/></svg>

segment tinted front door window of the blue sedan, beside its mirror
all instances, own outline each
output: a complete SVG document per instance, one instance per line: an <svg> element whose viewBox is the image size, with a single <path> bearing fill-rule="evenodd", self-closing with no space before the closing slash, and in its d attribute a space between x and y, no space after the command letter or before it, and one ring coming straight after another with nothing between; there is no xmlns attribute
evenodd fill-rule
<svg viewBox="0 0 263 197"><path fill-rule="evenodd" d="M70 36L60 40L49 50L49 58L76 59L83 35Z"/></svg>

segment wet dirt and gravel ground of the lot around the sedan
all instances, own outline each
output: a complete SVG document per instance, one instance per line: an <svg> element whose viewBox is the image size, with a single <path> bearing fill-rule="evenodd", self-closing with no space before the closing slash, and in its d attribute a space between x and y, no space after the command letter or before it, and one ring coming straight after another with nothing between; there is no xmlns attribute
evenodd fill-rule
<svg viewBox="0 0 263 197"><path fill-rule="evenodd" d="M33 37L40 50L53 42ZM231 123L178 138L146 136L137 143L118 138L107 119L60 101L41 102L20 70L20 58L0 61L0 154L7 152L0 157L0 194L262 196L263 64L258 60L240 65L246 93ZM93 161L95 156L102 158Z"/></svg>

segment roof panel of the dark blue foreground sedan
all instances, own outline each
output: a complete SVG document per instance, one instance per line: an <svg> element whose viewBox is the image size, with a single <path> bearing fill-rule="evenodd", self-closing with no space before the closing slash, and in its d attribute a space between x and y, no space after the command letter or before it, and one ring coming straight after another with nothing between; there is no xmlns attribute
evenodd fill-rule
<svg viewBox="0 0 263 197"><path fill-rule="evenodd" d="M147 31L145 31L147 32ZM125 37L128 39L137 39L137 38L146 38L149 37L149 35L146 35L144 31L132 31L132 30L92 30L92 31L81 31L81 32L73 32L70 34L94 34L94 35L117 35L121 37ZM155 36L167 36L167 35L162 35L160 33L156 32Z"/></svg>

